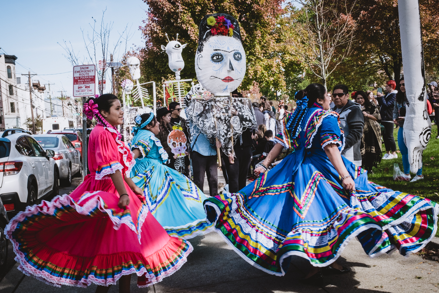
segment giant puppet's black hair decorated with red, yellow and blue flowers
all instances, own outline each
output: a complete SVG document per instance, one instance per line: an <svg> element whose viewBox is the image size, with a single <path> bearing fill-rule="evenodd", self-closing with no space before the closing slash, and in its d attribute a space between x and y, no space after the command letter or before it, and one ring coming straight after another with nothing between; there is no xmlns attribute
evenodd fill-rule
<svg viewBox="0 0 439 293"><path fill-rule="evenodd" d="M202 19L199 27L198 52L203 51L204 43L212 36L229 36L242 43L239 24L230 14L208 14Z"/></svg>

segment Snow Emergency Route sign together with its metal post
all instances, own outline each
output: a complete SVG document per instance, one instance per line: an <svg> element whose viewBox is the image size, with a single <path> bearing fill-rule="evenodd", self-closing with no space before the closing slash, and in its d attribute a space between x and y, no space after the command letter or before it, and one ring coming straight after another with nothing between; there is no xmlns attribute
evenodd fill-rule
<svg viewBox="0 0 439 293"><path fill-rule="evenodd" d="M73 97L82 97L83 109L86 97L93 97L96 87L96 65L73 66ZM87 117L83 111L83 180L87 175Z"/></svg>

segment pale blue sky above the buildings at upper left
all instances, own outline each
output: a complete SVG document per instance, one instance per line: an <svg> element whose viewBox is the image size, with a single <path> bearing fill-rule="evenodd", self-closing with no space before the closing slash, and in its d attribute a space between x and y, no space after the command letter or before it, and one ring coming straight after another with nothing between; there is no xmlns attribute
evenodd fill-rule
<svg viewBox="0 0 439 293"><path fill-rule="evenodd" d="M81 29L91 30L89 23L94 17L101 21L114 22L110 35L110 44L119 38L126 25L133 34L128 42L128 49L144 45L139 25L146 18L148 6L142 0L76 0L76 1L2 1L0 18L0 52L18 57L15 66L17 73L38 73L33 77L40 83L55 83L50 90L66 90L72 94L72 65L62 55L65 53L58 44L63 40L71 42L79 57L86 55ZM115 54L121 57L125 49ZM118 56L119 55L119 56ZM118 61L118 60L115 60ZM68 72L62 74L54 74ZM47 75L54 74L54 75ZM25 77L25 76L23 76ZM23 79L22 79L23 80ZM110 83L109 78L107 82ZM47 87L47 86L46 86ZM107 86L108 91L109 87ZM97 90L97 88L96 88ZM55 93L59 95L60 93Z"/></svg>

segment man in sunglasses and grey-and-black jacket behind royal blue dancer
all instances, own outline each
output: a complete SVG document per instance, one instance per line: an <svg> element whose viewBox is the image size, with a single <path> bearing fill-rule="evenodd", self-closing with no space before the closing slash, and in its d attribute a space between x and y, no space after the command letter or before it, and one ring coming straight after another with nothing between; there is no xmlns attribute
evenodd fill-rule
<svg viewBox="0 0 439 293"><path fill-rule="evenodd" d="M332 90L332 111L340 115L340 126L345 135L345 148L342 156L357 166L361 166L361 137L363 136L364 116L361 105L349 99L349 89L338 84Z"/></svg>

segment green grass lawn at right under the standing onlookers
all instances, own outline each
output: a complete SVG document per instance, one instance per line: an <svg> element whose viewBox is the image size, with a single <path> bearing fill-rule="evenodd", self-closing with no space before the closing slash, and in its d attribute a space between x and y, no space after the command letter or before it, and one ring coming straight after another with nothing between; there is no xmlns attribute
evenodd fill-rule
<svg viewBox="0 0 439 293"><path fill-rule="evenodd" d="M424 175L424 180L419 180L414 183L393 181L393 164L398 163L399 168L403 171L403 160L399 152L397 153L398 159L381 160L378 167L373 169L374 174L367 174L368 179L393 190L424 196L439 202L439 139L435 139L437 135L436 126L434 125L432 128L432 137L423 155L422 174ZM395 129L393 135L396 141L398 130ZM382 148L385 149L384 144ZM397 141L396 148L399 151ZM385 152L383 152L383 154L385 154ZM414 177L414 174L410 175L412 178Z"/></svg>

